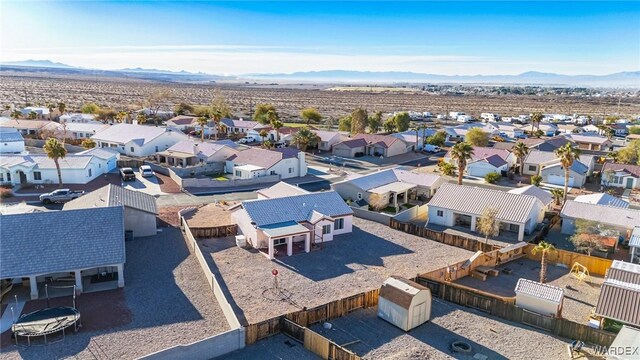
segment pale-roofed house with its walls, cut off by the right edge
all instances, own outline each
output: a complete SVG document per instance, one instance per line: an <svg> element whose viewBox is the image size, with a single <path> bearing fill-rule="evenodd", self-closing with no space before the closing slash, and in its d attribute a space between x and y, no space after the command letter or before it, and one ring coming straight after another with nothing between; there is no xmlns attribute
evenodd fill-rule
<svg viewBox="0 0 640 360"><path fill-rule="evenodd" d="M620 235L628 239L635 226L640 224L640 210L615 206L589 204L568 200L560 212L562 218L561 232L572 235L576 231L576 220L593 221L609 225L620 231Z"/></svg>

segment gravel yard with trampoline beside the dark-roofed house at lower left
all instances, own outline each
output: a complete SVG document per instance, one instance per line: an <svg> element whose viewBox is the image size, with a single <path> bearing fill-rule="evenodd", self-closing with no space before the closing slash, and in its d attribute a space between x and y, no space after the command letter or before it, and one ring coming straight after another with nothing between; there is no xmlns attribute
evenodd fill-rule
<svg viewBox="0 0 640 360"><path fill-rule="evenodd" d="M165 228L126 246L125 288L80 295L84 321L78 333L48 346L10 346L2 358L132 359L229 329L180 230ZM123 297L123 309L116 310L126 311L117 324L111 319L113 296ZM101 305L105 301L109 306ZM114 326L93 323L101 318Z"/></svg>

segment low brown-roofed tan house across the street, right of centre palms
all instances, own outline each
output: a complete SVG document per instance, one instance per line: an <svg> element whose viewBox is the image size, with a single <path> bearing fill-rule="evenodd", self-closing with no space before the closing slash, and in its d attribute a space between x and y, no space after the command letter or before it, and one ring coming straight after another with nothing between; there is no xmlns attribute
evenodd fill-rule
<svg viewBox="0 0 640 360"><path fill-rule="evenodd" d="M412 151L415 143L407 143L391 135L357 134L333 145L332 153L342 157L359 155L391 157Z"/></svg>

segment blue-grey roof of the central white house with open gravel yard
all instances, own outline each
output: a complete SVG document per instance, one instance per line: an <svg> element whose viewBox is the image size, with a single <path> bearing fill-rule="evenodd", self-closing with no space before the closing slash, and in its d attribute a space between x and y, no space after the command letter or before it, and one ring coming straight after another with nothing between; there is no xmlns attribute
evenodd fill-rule
<svg viewBox="0 0 640 360"><path fill-rule="evenodd" d="M335 191L249 200L243 202L242 207L257 226L309 221L314 211L331 217L353 214L353 210Z"/></svg>

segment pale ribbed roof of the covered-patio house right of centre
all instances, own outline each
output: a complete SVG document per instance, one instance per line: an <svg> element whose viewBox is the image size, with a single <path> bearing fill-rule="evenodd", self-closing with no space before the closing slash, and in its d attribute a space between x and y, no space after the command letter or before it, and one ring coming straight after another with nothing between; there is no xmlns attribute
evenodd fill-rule
<svg viewBox="0 0 640 360"><path fill-rule="evenodd" d="M445 183L429 201L429 207L478 216L485 208L495 208L498 220L525 223L536 201L538 199L531 195Z"/></svg>

